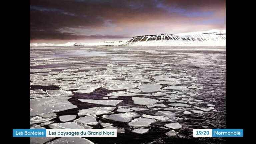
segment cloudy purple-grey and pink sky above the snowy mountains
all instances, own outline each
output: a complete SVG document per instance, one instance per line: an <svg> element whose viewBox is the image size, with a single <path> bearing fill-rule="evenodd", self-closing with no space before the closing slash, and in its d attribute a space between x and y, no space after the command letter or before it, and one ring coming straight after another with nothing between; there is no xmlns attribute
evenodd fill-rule
<svg viewBox="0 0 256 144"><path fill-rule="evenodd" d="M30 42L100 42L224 30L225 5L225 0L31 0Z"/></svg>

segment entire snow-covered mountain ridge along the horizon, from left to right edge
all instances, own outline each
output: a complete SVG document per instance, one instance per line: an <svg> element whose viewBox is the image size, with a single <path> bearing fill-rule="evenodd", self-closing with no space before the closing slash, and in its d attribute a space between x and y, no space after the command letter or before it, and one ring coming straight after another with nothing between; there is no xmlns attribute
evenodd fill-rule
<svg viewBox="0 0 256 144"><path fill-rule="evenodd" d="M226 46L226 30L213 29L178 34L142 35L132 37L130 40L97 43L31 43L30 46Z"/></svg>

